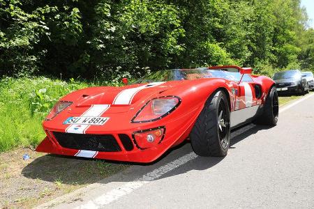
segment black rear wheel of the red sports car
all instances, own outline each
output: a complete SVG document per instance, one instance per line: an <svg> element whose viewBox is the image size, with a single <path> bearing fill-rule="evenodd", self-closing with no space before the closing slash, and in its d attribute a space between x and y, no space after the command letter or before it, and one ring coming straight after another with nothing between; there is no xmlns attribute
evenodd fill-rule
<svg viewBox="0 0 314 209"><path fill-rule="evenodd" d="M257 118L255 123L271 126L277 125L278 114L279 114L278 93L276 87L273 86L267 95L262 115L259 118Z"/></svg>

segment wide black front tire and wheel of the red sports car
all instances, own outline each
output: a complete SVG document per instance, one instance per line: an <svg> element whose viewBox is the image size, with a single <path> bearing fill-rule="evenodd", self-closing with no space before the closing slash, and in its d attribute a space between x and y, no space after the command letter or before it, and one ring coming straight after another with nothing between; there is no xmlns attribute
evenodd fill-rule
<svg viewBox="0 0 314 209"><path fill-rule="evenodd" d="M205 103L190 132L190 141L197 155L227 155L230 144L230 107L223 91L213 93Z"/></svg>

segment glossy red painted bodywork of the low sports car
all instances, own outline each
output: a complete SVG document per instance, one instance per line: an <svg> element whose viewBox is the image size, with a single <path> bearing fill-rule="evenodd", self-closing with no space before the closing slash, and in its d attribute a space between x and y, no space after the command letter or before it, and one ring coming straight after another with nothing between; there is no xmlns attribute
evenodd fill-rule
<svg viewBox="0 0 314 209"><path fill-rule="evenodd" d="M237 66L223 67L243 69ZM209 69L223 67L211 67ZM237 125L250 118L246 116L245 112L241 114L240 110L255 109L257 111L257 109L262 109L269 88L274 85L274 81L263 76L251 76L251 78L252 82L241 83L226 79L202 78L157 83L153 84L153 86L150 86L150 84L135 84L122 87L92 87L75 91L61 98L62 101L73 102L70 107L61 111L52 120L43 122L43 129L47 137L36 148L36 151L105 160L153 162L169 148L181 144L188 138L190 130L193 128L205 102L218 88L223 89L230 98L230 111L237 117L234 125L232 125L233 127L237 127ZM261 87L262 95L259 98L256 98L255 95L255 85ZM131 122L137 112L149 100L167 96L180 98L181 102L171 114L157 121L146 123ZM248 98L250 100L249 105L253 108L246 107L248 106L248 101L246 101ZM107 105L107 107L102 107L101 105ZM98 116L109 118L104 125L91 125L84 127L84 130L80 130L82 126L63 124L69 117L88 114L90 109L97 107L104 108ZM154 130L157 127L165 128L163 138L158 143L151 144L149 148L140 148L138 144L141 144L141 142L135 140L134 133L141 130ZM76 133L75 128L80 132ZM66 148L59 144L55 136L55 134L66 134L66 132L87 136L111 135L117 141L120 150L103 152ZM130 143L133 146L132 150L128 150L122 143L121 134L130 139Z"/></svg>

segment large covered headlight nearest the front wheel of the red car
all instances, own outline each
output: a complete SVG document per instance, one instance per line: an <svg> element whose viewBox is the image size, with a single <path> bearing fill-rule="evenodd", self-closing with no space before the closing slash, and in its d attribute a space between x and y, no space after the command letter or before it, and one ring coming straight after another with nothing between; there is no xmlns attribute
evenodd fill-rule
<svg viewBox="0 0 314 209"><path fill-rule="evenodd" d="M140 111L135 114L132 123L144 123L157 121L167 114L170 114L174 109L177 109L181 99L176 96L165 96L155 98L147 102Z"/></svg>

